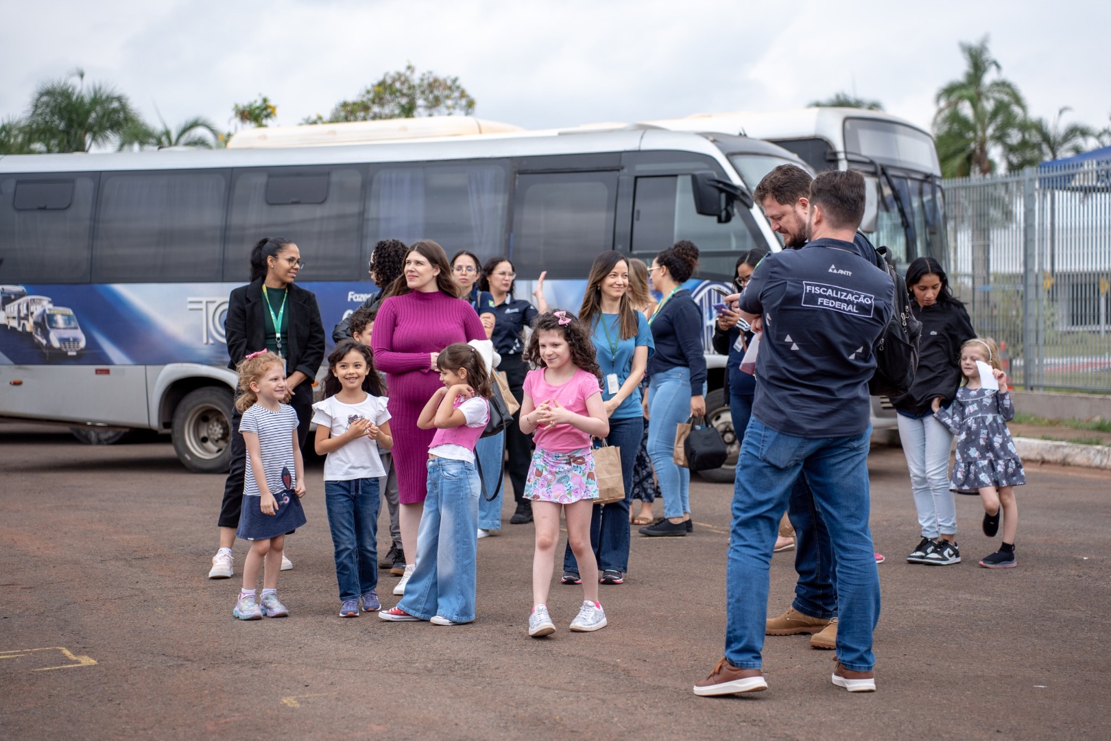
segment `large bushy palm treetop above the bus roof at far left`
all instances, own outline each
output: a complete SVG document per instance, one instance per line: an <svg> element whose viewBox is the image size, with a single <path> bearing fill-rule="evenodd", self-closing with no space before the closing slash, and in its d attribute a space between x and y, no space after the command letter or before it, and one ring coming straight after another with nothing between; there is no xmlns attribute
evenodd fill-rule
<svg viewBox="0 0 1111 741"><path fill-rule="evenodd" d="M79 69L70 79L39 88L27 126L44 151L87 152L118 139L137 118L126 96L104 84L87 88L84 71Z"/></svg>

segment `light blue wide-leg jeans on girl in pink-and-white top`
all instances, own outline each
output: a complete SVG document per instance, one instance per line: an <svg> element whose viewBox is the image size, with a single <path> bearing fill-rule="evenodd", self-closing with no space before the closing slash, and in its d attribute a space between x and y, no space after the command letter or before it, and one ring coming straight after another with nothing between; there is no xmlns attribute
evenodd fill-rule
<svg viewBox="0 0 1111 741"><path fill-rule="evenodd" d="M479 498L474 463L450 458L428 461L428 497L417 531L417 565L398 607L429 620L474 620Z"/></svg>

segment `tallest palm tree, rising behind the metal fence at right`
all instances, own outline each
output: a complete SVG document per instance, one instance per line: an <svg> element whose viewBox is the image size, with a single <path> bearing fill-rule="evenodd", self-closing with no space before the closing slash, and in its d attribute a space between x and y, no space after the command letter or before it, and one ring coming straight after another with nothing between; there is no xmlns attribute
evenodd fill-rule
<svg viewBox="0 0 1111 741"><path fill-rule="evenodd" d="M1005 157L1020 146L1027 114L1019 89L999 76L988 37L960 46L968 69L938 91L933 117L938 158L947 178L990 174L995 169L993 157Z"/></svg>

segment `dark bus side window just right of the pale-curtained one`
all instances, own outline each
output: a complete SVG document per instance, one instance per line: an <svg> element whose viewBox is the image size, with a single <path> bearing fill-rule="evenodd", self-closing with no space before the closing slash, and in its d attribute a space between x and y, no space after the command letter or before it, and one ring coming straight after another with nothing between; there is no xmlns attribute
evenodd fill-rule
<svg viewBox="0 0 1111 741"><path fill-rule="evenodd" d="M510 259L534 278L582 278L613 249L618 172L536 172L517 177Z"/></svg>

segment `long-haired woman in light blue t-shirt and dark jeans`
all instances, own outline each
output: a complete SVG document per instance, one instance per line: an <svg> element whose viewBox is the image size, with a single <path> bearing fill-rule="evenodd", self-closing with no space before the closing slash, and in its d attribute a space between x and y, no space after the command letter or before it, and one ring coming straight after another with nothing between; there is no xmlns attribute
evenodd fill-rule
<svg viewBox="0 0 1111 741"><path fill-rule="evenodd" d="M579 321L591 330L598 366L602 369L602 400L610 418L605 441L621 449L624 499L595 507L590 520L590 542L602 572L601 583L620 584L629 570L629 503L637 450L644 432L640 380L655 350L644 314L629 299L629 263L620 252L594 258ZM592 578L593 574L587 574ZM563 554L561 583L582 583L570 547Z"/></svg>

